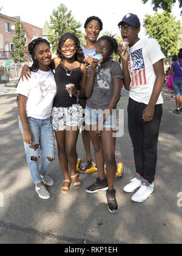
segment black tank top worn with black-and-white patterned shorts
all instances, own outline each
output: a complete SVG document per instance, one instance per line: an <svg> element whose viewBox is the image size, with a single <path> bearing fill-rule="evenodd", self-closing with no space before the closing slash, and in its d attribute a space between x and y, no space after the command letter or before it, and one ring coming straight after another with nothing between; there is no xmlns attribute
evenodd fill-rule
<svg viewBox="0 0 182 256"><path fill-rule="evenodd" d="M67 74L70 74L70 76L67 76ZM73 84L79 90L82 76L81 63L79 68L72 69L72 71L69 69L66 71L61 63L58 65L55 70L57 93L53 107L72 107L73 104L76 104L76 97L72 95L72 98L70 98L66 85Z"/></svg>

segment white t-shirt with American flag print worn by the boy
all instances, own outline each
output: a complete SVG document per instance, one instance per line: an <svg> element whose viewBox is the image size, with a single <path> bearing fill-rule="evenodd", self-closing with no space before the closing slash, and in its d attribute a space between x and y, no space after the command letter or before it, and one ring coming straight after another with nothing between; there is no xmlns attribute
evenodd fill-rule
<svg viewBox="0 0 182 256"><path fill-rule="evenodd" d="M160 44L152 38L140 39L128 49L128 53L131 78L129 96L136 102L149 104L156 79L153 64L165 56ZM161 93L156 104L163 104Z"/></svg>

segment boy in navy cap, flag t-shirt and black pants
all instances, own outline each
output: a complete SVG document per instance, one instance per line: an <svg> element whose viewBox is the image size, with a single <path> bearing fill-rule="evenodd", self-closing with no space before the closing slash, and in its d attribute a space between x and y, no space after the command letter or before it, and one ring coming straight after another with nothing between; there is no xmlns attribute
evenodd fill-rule
<svg viewBox="0 0 182 256"><path fill-rule="evenodd" d="M157 144L163 113L161 89L164 84L165 58L154 39L140 39L140 20L128 13L118 24L129 48L119 54L123 64L124 86L129 93L128 126L134 148L136 177L124 187L133 194L132 200L144 202L152 196L157 165Z"/></svg>

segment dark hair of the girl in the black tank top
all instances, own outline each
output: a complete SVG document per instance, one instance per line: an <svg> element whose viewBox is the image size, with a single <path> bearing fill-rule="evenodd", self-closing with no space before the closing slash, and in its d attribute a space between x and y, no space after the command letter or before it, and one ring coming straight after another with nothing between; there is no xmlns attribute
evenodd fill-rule
<svg viewBox="0 0 182 256"><path fill-rule="evenodd" d="M83 63L85 57L84 57L83 50L81 49L81 46L80 46L80 41L78 37L76 37L76 35L72 33L65 33L59 38L57 55L61 59L61 62L65 59L65 57L61 53L61 46L65 43L67 39L72 39L76 44L75 60L78 61L79 63Z"/></svg>

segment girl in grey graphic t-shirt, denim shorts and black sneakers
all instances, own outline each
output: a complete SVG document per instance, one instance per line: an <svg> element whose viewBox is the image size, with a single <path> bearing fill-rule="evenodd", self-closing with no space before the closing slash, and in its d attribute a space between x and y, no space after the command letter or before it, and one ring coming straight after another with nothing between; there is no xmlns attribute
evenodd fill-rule
<svg viewBox="0 0 182 256"><path fill-rule="evenodd" d="M118 44L109 36L99 38L96 44L96 54L103 55L103 61L98 66L98 60L93 59L88 70L86 85L86 125L90 126L90 137L95 149L96 166L99 177L93 185L86 188L87 193L107 190L106 197L109 211L119 211L116 202L114 180L116 174L115 138L113 130L116 127L116 104L120 100L122 71L119 63L110 60L112 52L117 53ZM103 114L104 112L104 114ZM106 162L107 179L104 176Z"/></svg>

